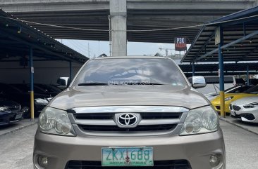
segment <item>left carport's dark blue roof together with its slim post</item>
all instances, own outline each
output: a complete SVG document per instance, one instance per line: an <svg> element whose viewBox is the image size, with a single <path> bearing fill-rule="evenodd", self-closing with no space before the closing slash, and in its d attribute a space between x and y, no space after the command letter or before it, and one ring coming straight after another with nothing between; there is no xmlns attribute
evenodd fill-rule
<svg viewBox="0 0 258 169"><path fill-rule="evenodd" d="M34 67L37 60L63 60L84 63L88 58L64 46L25 22L13 20L12 15L0 10L0 62L30 63L30 111L34 119Z"/></svg>

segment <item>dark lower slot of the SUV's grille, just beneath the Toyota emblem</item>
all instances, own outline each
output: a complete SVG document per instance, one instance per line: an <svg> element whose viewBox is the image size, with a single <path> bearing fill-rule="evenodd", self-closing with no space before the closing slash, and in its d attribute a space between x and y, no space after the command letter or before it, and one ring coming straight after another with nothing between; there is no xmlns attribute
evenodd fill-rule
<svg viewBox="0 0 258 169"><path fill-rule="evenodd" d="M84 131L105 131L105 132L142 132L142 131L164 131L173 130L176 128L176 124L164 124L164 125L148 125L137 126L135 128L119 128L118 126L99 126L99 125L78 125Z"/></svg>

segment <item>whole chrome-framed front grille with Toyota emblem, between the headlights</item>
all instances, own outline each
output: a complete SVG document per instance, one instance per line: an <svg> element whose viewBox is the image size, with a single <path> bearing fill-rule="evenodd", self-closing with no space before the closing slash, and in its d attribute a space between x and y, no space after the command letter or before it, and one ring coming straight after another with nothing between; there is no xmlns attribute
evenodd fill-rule
<svg viewBox="0 0 258 169"><path fill-rule="evenodd" d="M77 107L68 116L78 135L166 135L180 132L188 111L183 107ZM137 118L128 121L125 114Z"/></svg>

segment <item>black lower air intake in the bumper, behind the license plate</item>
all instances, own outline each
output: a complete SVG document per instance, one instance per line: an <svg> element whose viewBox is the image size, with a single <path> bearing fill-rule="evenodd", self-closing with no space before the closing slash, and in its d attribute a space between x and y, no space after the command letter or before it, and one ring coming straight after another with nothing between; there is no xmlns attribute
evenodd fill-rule
<svg viewBox="0 0 258 169"><path fill-rule="evenodd" d="M68 161L66 169L135 169L136 167L102 167L101 161ZM187 160L154 161L153 167L140 169L191 169Z"/></svg>

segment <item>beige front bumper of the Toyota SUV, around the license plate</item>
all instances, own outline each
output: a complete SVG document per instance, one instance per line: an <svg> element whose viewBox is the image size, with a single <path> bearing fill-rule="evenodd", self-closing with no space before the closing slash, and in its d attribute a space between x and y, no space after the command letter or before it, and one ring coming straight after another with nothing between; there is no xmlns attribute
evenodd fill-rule
<svg viewBox="0 0 258 169"><path fill-rule="evenodd" d="M47 135L37 130L33 162L40 168L38 156L47 156L47 168L66 169L68 161L102 161L102 147L153 147L155 161L187 160L192 169L226 168L225 147L221 129L202 135L164 135L145 137L65 137ZM221 163L212 168L211 154L221 154ZM101 168L101 167L100 167Z"/></svg>

